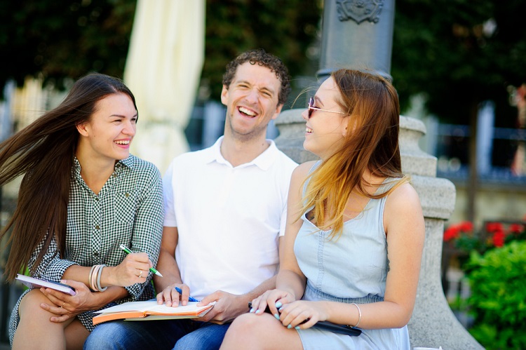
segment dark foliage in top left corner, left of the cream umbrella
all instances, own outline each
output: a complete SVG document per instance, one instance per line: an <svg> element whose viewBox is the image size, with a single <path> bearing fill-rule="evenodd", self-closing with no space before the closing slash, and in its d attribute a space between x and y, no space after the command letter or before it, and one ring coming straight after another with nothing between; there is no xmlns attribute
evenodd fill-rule
<svg viewBox="0 0 526 350"><path fill-rule="evenodd" d="M122 77L135 0L0 2L0 86L39 76L59 87L88 72Z"/></svg>

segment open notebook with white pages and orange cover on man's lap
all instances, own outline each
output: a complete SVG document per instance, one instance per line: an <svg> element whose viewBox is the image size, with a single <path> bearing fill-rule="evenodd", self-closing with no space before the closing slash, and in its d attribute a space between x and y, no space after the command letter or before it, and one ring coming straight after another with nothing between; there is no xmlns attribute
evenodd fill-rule
<svg viewBox="0 0 526 350"><path fill-rule="evenodd" d="M99 315L93 317L93 325L121 319L126 319L127 321L149 321L152 319L195 318L204 316L213 306L214 304L208 304L198 307L197 302L188 302L185 306L167 307L166 304L157 304L156 300L125 302L101 310Z"/></svg>

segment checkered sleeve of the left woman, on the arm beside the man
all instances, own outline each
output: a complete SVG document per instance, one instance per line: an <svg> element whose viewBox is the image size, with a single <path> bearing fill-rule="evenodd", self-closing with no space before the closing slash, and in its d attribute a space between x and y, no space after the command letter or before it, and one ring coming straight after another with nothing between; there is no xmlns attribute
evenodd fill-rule
<svg viewBox="0 0 526 350"><path fill-rule="evenodd" d="M137 205L130 249L134 252L147 253L151 263L156 266L163 234L163 182L159 170L156 169L145 183L151 186L144 190ZM125 287L130 298L139 299L152 277L153 274L150 272L144 283Z"/></svg>

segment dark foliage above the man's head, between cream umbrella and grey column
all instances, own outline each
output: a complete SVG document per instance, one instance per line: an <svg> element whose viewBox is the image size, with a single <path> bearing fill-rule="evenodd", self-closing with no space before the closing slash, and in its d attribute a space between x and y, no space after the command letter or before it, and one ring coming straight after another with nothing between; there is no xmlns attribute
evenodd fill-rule
<svg viewBox="0 0 526 350"><path fill-rule="evenodd" d="M210 98L220 99L222 74L227 63L252 48L264 48L281 58L291 76L309 70L313 76L316 69L309 66L307 49L318 34L319 2L207 0L202 77L203 83L210 88Z"/></svg>

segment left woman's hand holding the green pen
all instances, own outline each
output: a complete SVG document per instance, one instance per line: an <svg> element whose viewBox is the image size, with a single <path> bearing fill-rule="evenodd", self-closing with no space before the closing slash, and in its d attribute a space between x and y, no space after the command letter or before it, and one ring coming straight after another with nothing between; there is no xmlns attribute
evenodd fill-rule
<svg viewBox="0 0 526 350"><path fill-rule="evenodd" d="M128 287L135 283L144 283L152 267L147 253L132 253L126 255L121 264L116 267L104 267L103 273L109 272L109 284Z"/></svg>

